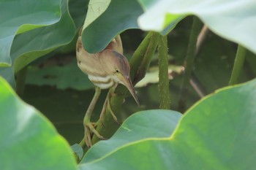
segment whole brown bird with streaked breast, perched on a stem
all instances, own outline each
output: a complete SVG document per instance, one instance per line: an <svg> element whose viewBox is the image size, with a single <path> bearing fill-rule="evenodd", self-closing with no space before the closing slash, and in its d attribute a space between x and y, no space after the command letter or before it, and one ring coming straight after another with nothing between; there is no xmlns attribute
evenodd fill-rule
<svg viewBox="0 0 256 170"><path fill-rule="evenodd" d="M110 90L108 91L99 120L102 120L102 117L105 114L105 109L108 107L113 119L117 121L116 116L110 108L110 96L118 84L127 87L137 104L139 104L139 101L130 79L129 61L123 55L120 35L116 36L108 46L99 53L88 53L82 45L81 34L82 29L80 29L76 44L78 67L84 74L88 75L89 80L91 80L95 86L94 97L89 104L85 117L83 118L83 126L85 128L84 142L88 147L91 147L91 134L95 134L99 139L105 139L96 131L94 123L91 123L91 114L102 89Z"/></svg>

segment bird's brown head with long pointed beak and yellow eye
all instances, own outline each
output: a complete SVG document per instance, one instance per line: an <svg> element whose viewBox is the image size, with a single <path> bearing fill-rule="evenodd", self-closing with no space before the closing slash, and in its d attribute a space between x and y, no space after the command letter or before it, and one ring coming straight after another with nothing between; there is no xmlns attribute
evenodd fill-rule
<svg viewBox="0 0 256 170"><path fill-rule="evenodd" d="M102 61L102 66L104 66L102 69L105 69L105 72L108 72L108 75L110 75L115 82L127 87L136 103L139 104L138 97L136 96L129 77L130 67L127 58L115 50L103 50L100 58Z"/></svg>

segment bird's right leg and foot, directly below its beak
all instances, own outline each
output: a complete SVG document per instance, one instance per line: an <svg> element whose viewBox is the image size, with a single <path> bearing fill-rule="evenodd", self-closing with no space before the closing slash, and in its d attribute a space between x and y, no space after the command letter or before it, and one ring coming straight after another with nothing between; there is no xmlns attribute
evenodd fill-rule
<svg viewBox="0 0 256 170"><path fill-rule="evenodd" d="M117 117L113 113L113 111L111 109L111 105L110 105L110 98L111 98L111 95L113 94L114 90L115 90L115 88L110 88L110 90L108 90L108 94L107 94L107 97L105 99L105 102L104 102L104 105L103 105L103 108L102 108L102 112L99 115L99 120L102 123L102 125L104 125L103 120L104 120L104 116L105 116L105 112L106 112L107 107L108 107L108 110L110 111L110 114L113 117L113 120L115 120L118 123ZM118 124L120 124L120 123L118 123Z"/></svg>

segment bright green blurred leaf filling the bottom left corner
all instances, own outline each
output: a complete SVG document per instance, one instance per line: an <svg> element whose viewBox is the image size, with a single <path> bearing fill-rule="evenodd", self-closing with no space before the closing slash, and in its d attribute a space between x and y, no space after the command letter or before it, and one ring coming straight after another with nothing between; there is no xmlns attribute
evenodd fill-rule
<svg viewBox="0 0 256 170"><path fill-rule="evenodd" d="M76 169L69 144L0 77L1 169Z"/></svg>

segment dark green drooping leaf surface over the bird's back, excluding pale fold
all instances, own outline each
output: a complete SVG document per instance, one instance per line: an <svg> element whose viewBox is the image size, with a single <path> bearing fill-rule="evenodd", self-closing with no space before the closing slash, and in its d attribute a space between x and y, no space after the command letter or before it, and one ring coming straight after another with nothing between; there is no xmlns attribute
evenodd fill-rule
<svg viewBox="0 0 256 170"><path fill-rule="evenodd" d="M112 0L108 9L83 30L83 47L89 53L103 50L117 34L138 28L137 18L143 13L136 0Z"/></svg>

